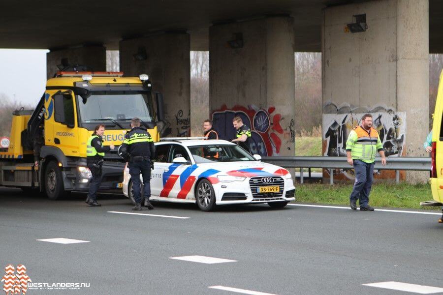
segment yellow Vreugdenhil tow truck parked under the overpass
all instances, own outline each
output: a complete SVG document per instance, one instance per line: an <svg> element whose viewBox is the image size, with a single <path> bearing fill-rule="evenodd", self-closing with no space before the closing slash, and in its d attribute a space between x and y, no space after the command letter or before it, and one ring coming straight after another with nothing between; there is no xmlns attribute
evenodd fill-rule
<svg viewBox="0 0 443 295"><path fill-rule="evenodd" d="M13 113L9 147L0 148L0 186L39 190L53 200L70 191L88 190L86 145L95 126L103 124L104 145L116 148L105 154L100 189L121 188L125 163L117 148L134 117L159 140L163 97L153 91L148 75L58 72L47 81L33 111ZM37 165L34 149L39 150Z"/></svg>

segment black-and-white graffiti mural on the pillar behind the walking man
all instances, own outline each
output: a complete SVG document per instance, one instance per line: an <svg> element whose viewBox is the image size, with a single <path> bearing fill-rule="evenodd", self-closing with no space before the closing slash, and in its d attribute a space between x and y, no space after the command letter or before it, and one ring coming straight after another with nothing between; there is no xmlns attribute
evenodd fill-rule
<svg viewBox="0 0 443 295"><path fill-rule="evenodd" d="M323 107L323 155L346 156L346 141L349 132L360 125L364 114L373 116L373 127L378 131L386 156L401 156L404 153L406 140L406 113L377 106L372 109L349 105L336 107L328 103ZM348 178L349 172L341 171Z"/></svg>

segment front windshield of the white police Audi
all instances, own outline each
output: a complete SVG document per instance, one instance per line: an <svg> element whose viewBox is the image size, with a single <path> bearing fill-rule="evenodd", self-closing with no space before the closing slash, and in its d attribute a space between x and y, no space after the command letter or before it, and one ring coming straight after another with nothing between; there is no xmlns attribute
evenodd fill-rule
<svg viewBox="0 0 443 295"><path fill-rule="evenodd" d="M246 150L237 145L207 145L188 148L196 164L255 161Z"/></svg>

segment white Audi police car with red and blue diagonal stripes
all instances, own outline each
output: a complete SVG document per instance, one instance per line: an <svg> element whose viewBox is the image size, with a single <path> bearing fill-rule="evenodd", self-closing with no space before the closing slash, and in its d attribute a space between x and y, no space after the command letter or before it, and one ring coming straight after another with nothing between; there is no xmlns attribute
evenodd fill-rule
<svg viewBox="0 0 443 295"><path fill-rule="evenodd" d="M263 163L259 155L251 156L234 143L166 138L155 145L151 201L196 203L210 211L232 204L267 203L281 208L295 200L294 183L286 169ZM123 193L134 204L132 185L125 167Z"/></svg>

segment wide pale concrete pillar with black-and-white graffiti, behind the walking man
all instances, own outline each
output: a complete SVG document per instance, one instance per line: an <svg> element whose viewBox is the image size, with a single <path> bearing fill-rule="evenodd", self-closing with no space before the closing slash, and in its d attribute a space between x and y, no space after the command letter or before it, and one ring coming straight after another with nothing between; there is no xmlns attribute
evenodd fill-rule
<svg viewBox="0 0 443 295"><path fill-rule="evenodd" d="M346 155L349 131L363 114L371 113L388 156L426 156L422 144L429 132L428 10L428 0L370 1L324 10L324 155ZM363 14L366 31L351 32L347 24ZM411 182L429 178L427 172L407 174ZM388 171L380 177L395 178Z"/></svg>

